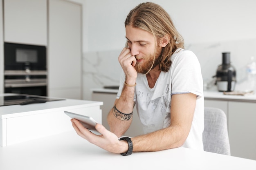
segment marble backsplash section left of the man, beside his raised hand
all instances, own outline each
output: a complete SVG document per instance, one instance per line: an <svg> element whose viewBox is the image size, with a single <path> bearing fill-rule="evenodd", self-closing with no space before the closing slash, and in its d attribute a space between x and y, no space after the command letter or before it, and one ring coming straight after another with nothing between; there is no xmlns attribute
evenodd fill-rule
<svg viewBox="0 0 256 170"><path fill-rule="evenodd" d="M92 88L119 86L121 50L88 52L83 55L83 99L90 100Z"/></svg>

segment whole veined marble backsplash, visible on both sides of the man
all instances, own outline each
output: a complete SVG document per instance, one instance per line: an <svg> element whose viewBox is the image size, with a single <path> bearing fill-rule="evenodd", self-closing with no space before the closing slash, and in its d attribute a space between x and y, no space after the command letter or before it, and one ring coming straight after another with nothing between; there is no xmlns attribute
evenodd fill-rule
<svg viewBox="0 0 256 170"><path fill-rule="evenodd" d="M230 52L231 64L236 68L235 90L245 90L246 65L251 56L256 57L256 39L185 44L185 49L197 55L206 88L214 88L212 77L216 75L218 65L222 64L222 52ZM117 58L121 50L83 54L83 99L91 99L92 88L119 85L121 66Z"/></svg>

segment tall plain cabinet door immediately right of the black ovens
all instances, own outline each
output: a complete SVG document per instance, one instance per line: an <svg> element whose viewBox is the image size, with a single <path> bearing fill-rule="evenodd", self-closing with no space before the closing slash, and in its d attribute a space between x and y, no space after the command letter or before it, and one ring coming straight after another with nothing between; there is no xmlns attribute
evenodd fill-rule
<svg viewBox="0 0 256 170"><path fill-rule="evenodd" d="M49 0L49 96L81 99L81 16L81 4Z"/></svg>

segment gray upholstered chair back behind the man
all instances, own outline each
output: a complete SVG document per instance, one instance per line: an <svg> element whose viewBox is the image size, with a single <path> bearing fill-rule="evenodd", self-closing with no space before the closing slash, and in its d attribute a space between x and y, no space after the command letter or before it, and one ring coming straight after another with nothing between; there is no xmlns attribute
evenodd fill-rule
<svg viewBox="0 0 256 170"><path fill-rule="evenodd" d="M230 155L227 116L219 108L204 107L204 151Z"/></svg>

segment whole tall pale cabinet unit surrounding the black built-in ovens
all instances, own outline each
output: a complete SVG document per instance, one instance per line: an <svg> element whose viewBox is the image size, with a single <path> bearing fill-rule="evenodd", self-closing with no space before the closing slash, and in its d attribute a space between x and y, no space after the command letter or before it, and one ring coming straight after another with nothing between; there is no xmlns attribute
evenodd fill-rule
<svg viewBox="0 0 256 170"><path fill-rule="evenodd" d="M82 4L73 0L4 0L3 4L4 42L47 46L48 96L81 99Z"/></svg>

